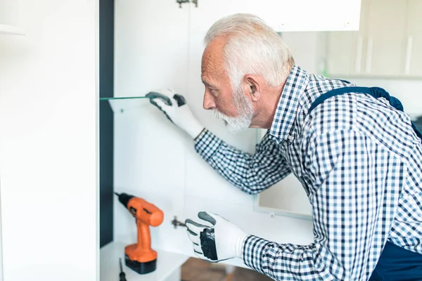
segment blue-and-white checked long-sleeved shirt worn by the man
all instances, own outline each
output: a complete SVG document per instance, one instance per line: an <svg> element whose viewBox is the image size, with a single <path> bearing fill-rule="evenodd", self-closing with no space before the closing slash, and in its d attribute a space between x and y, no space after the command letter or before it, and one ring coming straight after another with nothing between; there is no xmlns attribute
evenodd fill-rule
<svg viewBox="0 0 422 281"><path fill-rule="evenodd" d="M254 235L243 244L244 263L274 280L368 280L387 240L422 254L421 140L384 98L346 93L307 114L317 97L343 86L355 85L295 65L254 155L207 130L196 140L199 155L244 192L262 192L291 172L302 183L312 244Z"/></svg>

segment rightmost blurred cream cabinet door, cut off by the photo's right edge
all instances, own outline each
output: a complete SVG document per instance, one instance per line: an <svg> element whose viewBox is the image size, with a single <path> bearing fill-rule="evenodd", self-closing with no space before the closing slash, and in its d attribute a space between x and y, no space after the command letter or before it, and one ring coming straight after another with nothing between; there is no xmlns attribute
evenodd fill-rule
<svg viewBox="0 0 422 281"><path fill-rule="evenodd" d="M422 1L409 0L404 73L422 76Z"/></svg>

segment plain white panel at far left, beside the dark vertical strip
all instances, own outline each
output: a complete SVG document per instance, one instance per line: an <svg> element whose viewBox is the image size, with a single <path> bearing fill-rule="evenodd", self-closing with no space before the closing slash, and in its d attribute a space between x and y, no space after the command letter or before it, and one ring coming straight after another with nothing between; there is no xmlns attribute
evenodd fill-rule
<svg viewBox="0 0 422 281"><path fill-rule="evenodd" d="M9 1L26 35L0 35L4 280L96 280L98 0Z"/></svg>

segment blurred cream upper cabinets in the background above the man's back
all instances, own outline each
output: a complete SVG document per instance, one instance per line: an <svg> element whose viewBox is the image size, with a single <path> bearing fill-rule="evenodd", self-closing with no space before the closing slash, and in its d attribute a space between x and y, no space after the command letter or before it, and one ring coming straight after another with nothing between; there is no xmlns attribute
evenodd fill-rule
<svg viewBox="0 0 422 281"><path fill-rule="evenodd" d="M422 0L363 0L357 32L327 32L334 77L421 77Z"/></svg>

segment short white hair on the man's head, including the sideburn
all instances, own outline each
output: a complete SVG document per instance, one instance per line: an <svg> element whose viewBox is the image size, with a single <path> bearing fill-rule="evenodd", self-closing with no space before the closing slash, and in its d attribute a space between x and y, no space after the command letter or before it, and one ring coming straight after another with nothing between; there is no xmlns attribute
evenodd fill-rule
<svg viewBox="0 0 422 281"><path fill-rule="evenodd" d="M270 86L278 86L295 63L281 36L256 15L237 13L217 20L208 30L205 44L220 36L228 36L224 68L234 93L240 91L245 74L258 74Z"/></svg>

